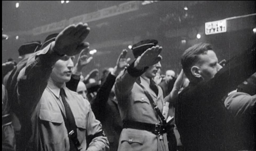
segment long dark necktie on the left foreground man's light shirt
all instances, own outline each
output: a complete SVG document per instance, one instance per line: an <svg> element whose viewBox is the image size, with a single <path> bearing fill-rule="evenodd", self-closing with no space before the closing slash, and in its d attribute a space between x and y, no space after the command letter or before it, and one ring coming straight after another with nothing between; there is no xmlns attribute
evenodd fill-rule
<svg viewBox="0 0 256 151"><path fill-rule="evenodd" d="M64 89L60 89L60 97L62 98L62 102L64 104L65 107L65 111L66 111L66 120L65 121L65 126L68 130L68 133L70 133L71 130L74 130L74 135L77 138L77 131L76 131L76 124L75 124L75 118L74 115L70 109L70 106L68 104L68 102L66 101L65 98L65 91ZM70 151L77 151L73 141L71 140L71 138L69 137L69 145L70 145Z"/></svg>

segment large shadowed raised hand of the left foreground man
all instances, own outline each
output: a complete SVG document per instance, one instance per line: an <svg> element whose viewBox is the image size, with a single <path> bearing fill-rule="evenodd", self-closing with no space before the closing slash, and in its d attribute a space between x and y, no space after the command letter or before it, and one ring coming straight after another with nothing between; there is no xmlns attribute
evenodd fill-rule
<svg viewBox="0 0 256 151"><path fill-rule="evenodd" d="M76 55L80 53L81 50L89 47L89 43L83 43L89 32L90 28L87 23L70 25L56 37L53 50L59 55Z"/></svg>

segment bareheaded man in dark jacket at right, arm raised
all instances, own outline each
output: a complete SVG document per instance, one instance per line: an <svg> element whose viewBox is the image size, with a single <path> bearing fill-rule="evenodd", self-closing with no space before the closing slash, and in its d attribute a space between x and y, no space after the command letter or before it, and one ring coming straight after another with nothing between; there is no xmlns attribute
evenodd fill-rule
<svg viewBox="0 0 256 151"><path fill-rule="evenodd" d="M185 150L235 150L236 125L220 101L256 71L253 48L223 69L210 44L196 44L183 53L182 68L190 84L178 96L175 121Z"/></svg>

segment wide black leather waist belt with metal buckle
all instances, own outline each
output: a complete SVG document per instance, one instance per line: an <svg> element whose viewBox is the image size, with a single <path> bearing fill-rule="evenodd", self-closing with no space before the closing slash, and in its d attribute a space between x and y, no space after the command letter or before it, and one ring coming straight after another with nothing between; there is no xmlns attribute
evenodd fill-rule
<svg viewBox="0 0 256 151"><path fill-rule="evenodd" d="M143 122L136 122L131 120L123 121L123 128L130 128L130 129L138 129L138 130L146 130L150 131L155 135L167 133L170 130L174 129L174 125L161 125L161 124L150 124L150 123L143 123Z"/></svg>

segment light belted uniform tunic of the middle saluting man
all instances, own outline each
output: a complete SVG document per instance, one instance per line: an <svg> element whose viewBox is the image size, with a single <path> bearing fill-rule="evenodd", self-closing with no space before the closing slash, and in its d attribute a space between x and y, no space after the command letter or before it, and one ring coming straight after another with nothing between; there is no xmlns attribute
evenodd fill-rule
<svg viewBox="0 0 256 151"><path fill-rule="evenodd" d="M150 89L149 79L132 77L124 71L117 77L115 93L118 100L118 108L122 120L132 120L150 124L159 123L161 120L152 108L142 87L136 83L140 78L140 84L151 95L160 111L164 106L162 89L158 86L158 96ZM123 129L119 139L118 151L168 151L166 134L155 135L150 131L138 129Z"/></svg>

